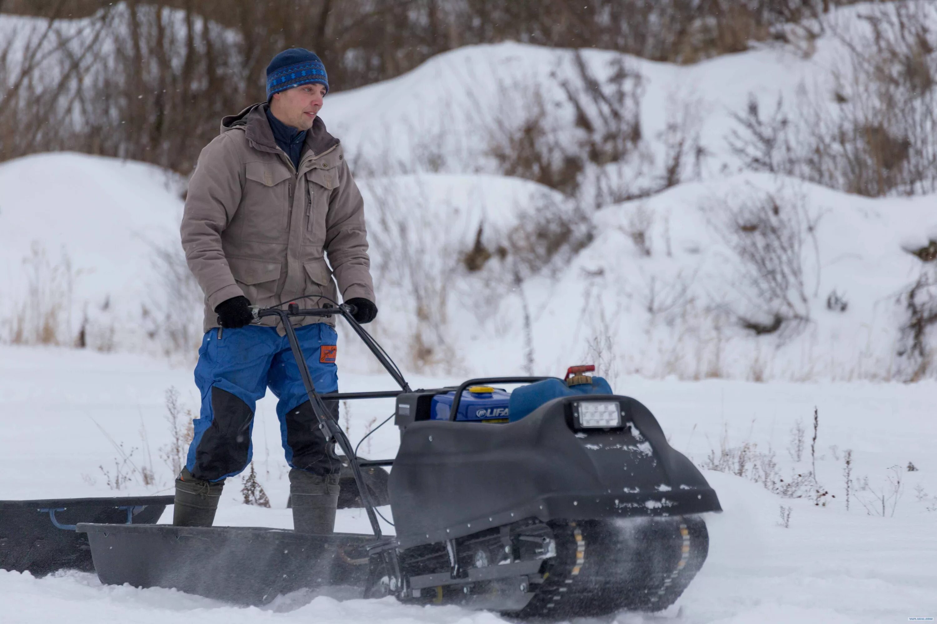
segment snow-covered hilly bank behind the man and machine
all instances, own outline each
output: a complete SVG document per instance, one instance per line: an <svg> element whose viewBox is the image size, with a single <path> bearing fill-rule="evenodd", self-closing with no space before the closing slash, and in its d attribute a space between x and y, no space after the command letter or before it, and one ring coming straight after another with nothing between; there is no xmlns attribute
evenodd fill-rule
<svg viewBox="0 0 937 624"><path fill-rule="evenodd" d="M834 13L809 54L765 45L677 66L504 43L330 95L322 117L367 202L374 331L410 370L445 373L556 373L588 360L612 378L932 375L933 331L921 334L922 355L909 293L933 268L909 252L937 240L934 196L873 200L739 173L726 142L750 94L767 103L801 87L825 94L843 58L840 34L864 27L864 10ZM565 195L503 175L498 141L531 115L560 155L581 147L573 101L593 121L602 108L587 77L639 94L622 100L640 126L632 152L587 163ZM675 132L696 146L676 168ZM182 199L171 176L36 155L0 165L0 188L6 340L23 327L46 331L52 310L59 342L84 327L95 348L191 353L198 292L179 258ZM783 242L772 246L772 236ZM370 370L362 352L350 355L350 366Z"/></svg>

